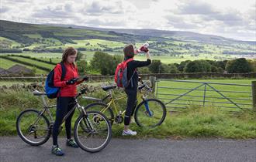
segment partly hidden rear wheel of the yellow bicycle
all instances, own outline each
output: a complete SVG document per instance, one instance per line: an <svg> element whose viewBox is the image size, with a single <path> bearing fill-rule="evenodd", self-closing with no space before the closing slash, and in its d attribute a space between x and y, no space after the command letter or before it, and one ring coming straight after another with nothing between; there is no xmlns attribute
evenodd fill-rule
<svg viewBox="0 0 256 162"><path fill-rule="evenodd" d="M101 112L103 113L108 119L109 119L109 122L112 123L114 122L114 113L111 109L111 107L109 107L109 109L107 109L106 111L102 112L102 110L106 109L107 105L106 103L92 103L92 104L89 104L88 106L85 107L85 110L86 111L98 111L98 112Z"/></svg>

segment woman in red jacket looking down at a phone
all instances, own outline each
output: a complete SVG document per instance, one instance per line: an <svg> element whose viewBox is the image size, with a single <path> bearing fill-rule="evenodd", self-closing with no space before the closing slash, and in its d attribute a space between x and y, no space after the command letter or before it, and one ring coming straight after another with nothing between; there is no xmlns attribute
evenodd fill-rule
<svg viewBox="0 0 256 162"><path fill-rule="evenodd" d="M61 64L57 64L54 68L54 86L61 87L60 93L57 96L57 110L56 110L56 119L54 122L53 128L53 147L52 147L52 154L61 156L64 155L64 152L58 147L57 144L57 135L59 127L61 126L61 121L63 120L64 116L67 114L69 110L72 109L74 104L74 96L77 94L77 85L83 82L76 82L75 78L78 78L78 67L74 64L74 61L77 57L77 50L73 47L67 48L62 55L61 62L64 63L66 69L66 75L63 80L61 80ZM65 128L66 128L66 135L67 135L67 142L66 145L68 147L75 147L77 148L77 143L71 139L71 118L74 114L74 111L71 113L70 116L67 117L65 120Z"/></svg>

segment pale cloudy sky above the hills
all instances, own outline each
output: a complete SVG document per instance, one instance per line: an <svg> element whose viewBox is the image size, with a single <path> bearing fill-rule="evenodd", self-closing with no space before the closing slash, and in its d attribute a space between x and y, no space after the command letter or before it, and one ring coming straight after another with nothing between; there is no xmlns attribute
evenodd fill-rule
<svg viewBox="0 0 256 162"><path fill-rule="evenodd" d="M256 41L256 0L0 0L0 19L189 31Z"/></svg>

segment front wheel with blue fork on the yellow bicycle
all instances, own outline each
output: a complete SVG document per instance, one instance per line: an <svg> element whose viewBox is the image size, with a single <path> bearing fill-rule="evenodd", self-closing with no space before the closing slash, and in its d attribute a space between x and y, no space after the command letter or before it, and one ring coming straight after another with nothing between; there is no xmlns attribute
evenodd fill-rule
<svg viewBox="0 0 256 162"><path fill-rule="evenodd" d="M164 103L160 100L148 99L137 106L134 119L140 127L157 127L164 122L165 116Z"/></svg>

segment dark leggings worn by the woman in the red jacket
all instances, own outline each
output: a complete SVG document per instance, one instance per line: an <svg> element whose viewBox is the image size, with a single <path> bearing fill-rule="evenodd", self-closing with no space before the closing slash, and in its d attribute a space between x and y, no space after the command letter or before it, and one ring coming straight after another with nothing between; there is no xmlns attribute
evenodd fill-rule
<svg viewBox="0 0 256 162"><path fill-rule="evenodd" d="M54 122L54 128L53 128L53 143L54 145L57 145L57 135L59 127L61 126L61 122L64 118L64 116L73 108L74 104L74 97L71 96L61 96L57 97L57 110L56 110L56 118ZM67 139L71 138L71 119L74 114L74 111L71 113L70 116L67 117L65 121L65 128L66 128L66 134Z"/></svg>

